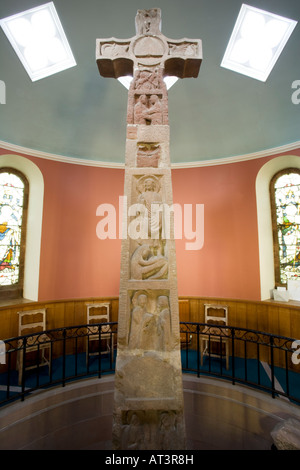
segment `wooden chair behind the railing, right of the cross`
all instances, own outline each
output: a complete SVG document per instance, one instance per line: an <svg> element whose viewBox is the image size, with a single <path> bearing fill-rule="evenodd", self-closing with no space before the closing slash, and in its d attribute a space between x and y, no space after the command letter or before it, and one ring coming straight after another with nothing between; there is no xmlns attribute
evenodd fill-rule
<svg viewBox="0 0 300 470"><path fill-rule="evenodd" d="M204 322L211 325L206 326L200 334L201 365L205 355L210 357L224 357L226 359L226 369L229 369L229 336L228 329L223 328L228 325L228 307L225 305L204 304ZM223 351L214 351L217 348L225 348Z"/></svg>

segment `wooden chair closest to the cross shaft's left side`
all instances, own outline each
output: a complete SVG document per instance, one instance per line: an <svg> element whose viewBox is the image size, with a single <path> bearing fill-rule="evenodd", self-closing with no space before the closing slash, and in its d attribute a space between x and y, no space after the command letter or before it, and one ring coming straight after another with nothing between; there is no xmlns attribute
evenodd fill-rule
<svg viewBox="0 0 300 470"><path fill-rule="evenodd" d="M99 328L98 326L92 326L95 323L108 323L110 317L110 303L101 302L97 304L86 304L87 307L87 324L91 325L88 327L86 337L86 365L88 366L89 356L95 356L99 354L101 345L98 346L98 350L90 351L90 343L99 341ZM106 343L106 349L101 350L101 354L111 354L113 360L114 356L114 333L111 331L109 325L101 327L101 342L102 340Z"/></svg>

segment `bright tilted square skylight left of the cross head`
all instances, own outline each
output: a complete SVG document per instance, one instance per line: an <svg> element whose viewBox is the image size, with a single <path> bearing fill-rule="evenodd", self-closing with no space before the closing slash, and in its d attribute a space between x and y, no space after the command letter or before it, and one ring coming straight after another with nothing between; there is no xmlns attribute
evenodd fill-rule
<svg viewBox="0 0 300 470"><path fill-rule="evenodd" d="M76 65L53 2L0 20L32 81Z"/></svg>

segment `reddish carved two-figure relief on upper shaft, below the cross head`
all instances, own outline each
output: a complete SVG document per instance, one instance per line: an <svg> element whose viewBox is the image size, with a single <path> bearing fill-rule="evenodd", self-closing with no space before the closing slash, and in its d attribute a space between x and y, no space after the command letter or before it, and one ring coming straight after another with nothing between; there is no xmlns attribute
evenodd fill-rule
<svg viewBox="0 0 300 470"><path fill-rule="evenodd" d="M161 96L137 95L134 105L134 124L163 124Z"/></svg>

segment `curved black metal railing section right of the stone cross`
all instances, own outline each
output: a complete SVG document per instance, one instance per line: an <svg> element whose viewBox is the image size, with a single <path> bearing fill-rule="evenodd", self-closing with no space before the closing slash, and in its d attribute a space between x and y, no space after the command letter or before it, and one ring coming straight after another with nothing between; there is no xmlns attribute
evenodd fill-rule
<svg viewBox="0 0 300 470"><path fill-rule="evenodd" d="M251 329L180 323L182 369L241 383L300 404L295 339ZM299 351L300 356L300 351Z"/></svg>

